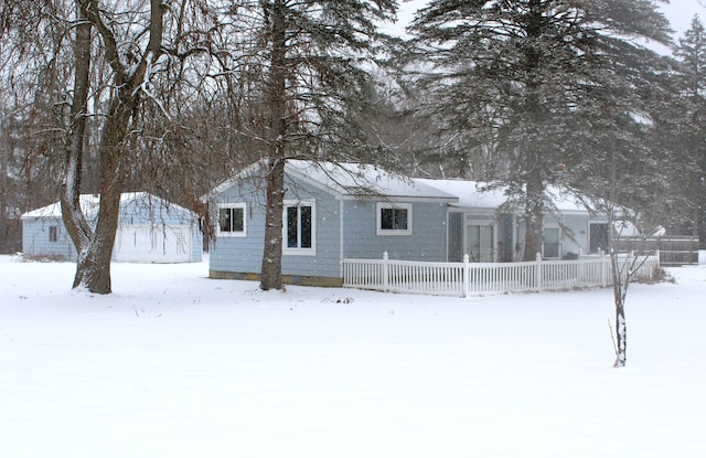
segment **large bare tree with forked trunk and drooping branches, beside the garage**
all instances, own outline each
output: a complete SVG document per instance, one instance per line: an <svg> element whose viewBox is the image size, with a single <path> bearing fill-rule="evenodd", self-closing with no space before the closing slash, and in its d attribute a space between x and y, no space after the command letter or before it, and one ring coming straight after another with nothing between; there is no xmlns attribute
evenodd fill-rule
<svg viewBox="0 0 706 458"><path fill-rule="evenodd" d="M183 190L180 202L196 201L199 177L190 173L207 159L188 150L184 139L202 129L192 107L213 95L213 86L204 84L213 77L208 73L218 51L210 38L226 26L218 23L226 3L6 3L3 14L12 13L13 20L2 22L10 35L2 62L12 65L4 67L3 83L21 88L14 93L24 97L22 124L31 146L25 169L46 164L44 194L61 195L64 223L78 252L74 287L110 292L124 190L172 195ZM56 181L61 192L54 192ZM182 181L189 185L175 184ZM86 191L100 195L93 221L81 205Z"/></svg>

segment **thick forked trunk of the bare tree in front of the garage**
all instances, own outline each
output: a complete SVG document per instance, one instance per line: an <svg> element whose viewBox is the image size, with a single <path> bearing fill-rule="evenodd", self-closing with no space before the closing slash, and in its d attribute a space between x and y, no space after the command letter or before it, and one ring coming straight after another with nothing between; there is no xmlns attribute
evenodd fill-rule
<svg viewBox="0 0 706 458"><path fill-rule="evenodd" d="M137 65L121 62L119 41L100 17L98 2L76 0L74 99L71 108L69 135L65 147L62 215L78 252L74 288L92 292L111 292L110 260L118 228L120 198L127 169L127 143L130 121L140 104L140 86L149 79L150 67L161 53L163 14L161 0L150 0L149 42ZM100 194L98 216L93 227L81 209L81 174L86 137L86 113L89 90L92 31L100 34L107 63L115 73L115 93L105 115L98 153L100 156Z"/></svg>

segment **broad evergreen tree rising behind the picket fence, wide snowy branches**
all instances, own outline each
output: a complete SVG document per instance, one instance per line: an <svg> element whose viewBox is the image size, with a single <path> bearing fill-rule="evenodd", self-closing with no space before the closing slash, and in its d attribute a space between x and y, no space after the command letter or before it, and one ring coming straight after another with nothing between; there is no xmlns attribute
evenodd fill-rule
<svg viewBox="0 0 706 458"><path fill-rule="evenodd" d="M524 209L525 259L542 251L547 185L566 184L606 147L600 129L649 110L640 90L659 58L646 40L670 42L645 0L439 0L409 31L417 60L432 64L418 79L441 142Z"/></svg>

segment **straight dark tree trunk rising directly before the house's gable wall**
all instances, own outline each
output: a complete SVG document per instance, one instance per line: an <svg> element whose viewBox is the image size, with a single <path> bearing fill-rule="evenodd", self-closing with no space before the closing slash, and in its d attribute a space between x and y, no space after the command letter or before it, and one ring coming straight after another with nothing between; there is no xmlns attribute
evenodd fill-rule
<svg viewBox="0 0 706 458"><path fill-rule="evenodd" d="M267 212L260 288L282 289L282 213L287 149L286 23L282 0L274 2L271 14L272 51L269 75L270 138L267 161Z"/></svg>

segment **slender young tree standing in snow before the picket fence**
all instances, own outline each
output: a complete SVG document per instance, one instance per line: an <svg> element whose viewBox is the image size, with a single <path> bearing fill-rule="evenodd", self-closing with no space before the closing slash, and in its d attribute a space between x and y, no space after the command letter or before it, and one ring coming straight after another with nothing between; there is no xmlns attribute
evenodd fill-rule
<svg viewBox="0 0 706 458"><path fill-rule="evenodd" d="M668 74L668 72L667 72ZM664 146L660 137L659 120L644 110L618 114L617 99L622 97L618 87L603 88L600 99L602 113L608 113L600 125L592 127L597 148L586 155L580 166L573 170L571 182L575 194L584 199L589 210L602 215L608 222L608 252L611 262L613 303L616 310L616 368L627 364L628 324L625 305L631 281L637 279L640 268L650 255L644 248L643 237L659 225L667 224L688 207L687 198L681 193L680 177L693 167L688 155L678 150L652 148ZM650 100L648 105L670 105L675 95L654 92L648 97L635 87L633 97ZM639 106L635 102L632 106ZM657 111L653 111L657 113ZM617 237L624 235L621 227L628 223L641 236L632 237L625 249L619 251Z"/></svg>

